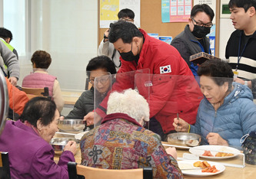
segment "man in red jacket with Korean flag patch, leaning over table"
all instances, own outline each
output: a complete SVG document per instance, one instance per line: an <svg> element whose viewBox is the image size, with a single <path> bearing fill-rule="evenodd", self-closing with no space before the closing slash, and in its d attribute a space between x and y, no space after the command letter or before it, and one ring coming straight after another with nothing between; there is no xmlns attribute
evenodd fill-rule
<svg viewBox="0 0 256 179"><path fill-rule="evenodd" d="M178 50L148 36L146 31L127 21L113 24L108 38L121 55L121 68L111 91L136 87L145 99L150 100L149 129L161 135L162 140L168 133L175 132L172 123L178 112L186 122L194 124L202 94ZM140 76L141 71L145 76ZM150 87L149 96L146 86ZM95 109L95 113L85 116L88 125L94 119L98 122L105 116L107 102L108 96Z"/></svg>

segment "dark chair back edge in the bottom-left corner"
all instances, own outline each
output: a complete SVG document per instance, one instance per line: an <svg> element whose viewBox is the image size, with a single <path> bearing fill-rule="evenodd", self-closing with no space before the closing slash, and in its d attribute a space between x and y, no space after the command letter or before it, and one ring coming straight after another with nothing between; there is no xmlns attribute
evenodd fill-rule
<svg viewBox="0 0 256 179"><path fill-rule="evenodd" d="M8 152L0 151L0 178L1 179L11 178Z"/></svg>

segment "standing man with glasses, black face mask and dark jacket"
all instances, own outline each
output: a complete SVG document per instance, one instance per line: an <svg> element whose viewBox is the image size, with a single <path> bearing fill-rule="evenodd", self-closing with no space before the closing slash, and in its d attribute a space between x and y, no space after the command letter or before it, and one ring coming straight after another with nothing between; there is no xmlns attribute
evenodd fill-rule
<svg viewBox="0 0 256 179"><path fill-rule="evenodd" d="M194 76L198 76L198 66L191 63L189 57L199 52L211 54L210 42L206 35L210 33L213 18L214 11L209 5L194 5L185 30L171 41L171 45L180 52L181 57L188 63L188 67L190 67Z"/></svg>

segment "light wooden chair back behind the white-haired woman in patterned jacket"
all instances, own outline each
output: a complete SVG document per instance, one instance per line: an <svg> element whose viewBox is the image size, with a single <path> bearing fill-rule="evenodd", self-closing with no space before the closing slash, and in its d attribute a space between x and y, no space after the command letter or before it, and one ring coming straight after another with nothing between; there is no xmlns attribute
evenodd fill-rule
<svg viewBox="0 0 256 179"><path fill-rule="evenodd" d="M85 179L151 179L153 178L152 168L137 168L128 170L113 170L102 168L86 167L75 162L68 162L69 178L85 178Z"/></svg>

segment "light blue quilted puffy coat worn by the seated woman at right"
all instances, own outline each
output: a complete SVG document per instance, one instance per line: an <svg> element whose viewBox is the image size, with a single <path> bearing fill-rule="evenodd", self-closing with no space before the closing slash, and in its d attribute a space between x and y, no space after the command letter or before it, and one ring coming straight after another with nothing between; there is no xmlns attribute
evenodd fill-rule
<svg viewBox="0 0 256 179"><path fill-rule="evenodd" d="M217 111L206 98L201 100L191 132L201 135L203 144L208 144L208 133L214 132L221 135L228 145L240 148L240 138L256 131L256 106L252 102L251 89L239 83L233 83L233 86Z"/></svg>

